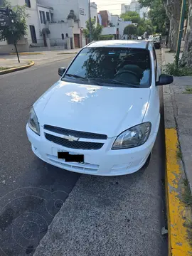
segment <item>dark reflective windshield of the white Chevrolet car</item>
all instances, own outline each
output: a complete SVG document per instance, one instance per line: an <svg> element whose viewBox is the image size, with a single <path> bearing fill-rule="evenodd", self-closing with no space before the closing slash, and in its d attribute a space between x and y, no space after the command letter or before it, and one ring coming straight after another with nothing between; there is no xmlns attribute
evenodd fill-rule
<svg viewBox="0 0 192 256"><path fill-rule="evenodd" d="M141 48L84 48L62 80L90 85L149 87L149 50Z"/></svg>

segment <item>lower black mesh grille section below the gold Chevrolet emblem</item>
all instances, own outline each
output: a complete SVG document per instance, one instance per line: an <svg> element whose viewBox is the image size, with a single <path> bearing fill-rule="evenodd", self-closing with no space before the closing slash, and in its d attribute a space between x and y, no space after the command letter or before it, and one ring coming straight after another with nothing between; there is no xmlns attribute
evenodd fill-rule
<svg viewBox="0 0 192 256"><path fill-rule="evenodd" d="M70 149L101 149L103 146L103 143L97 142L70 142L68 139L63 139L46 133L45 136L50 142L54 142L55 144L65 146Z"/></svg>

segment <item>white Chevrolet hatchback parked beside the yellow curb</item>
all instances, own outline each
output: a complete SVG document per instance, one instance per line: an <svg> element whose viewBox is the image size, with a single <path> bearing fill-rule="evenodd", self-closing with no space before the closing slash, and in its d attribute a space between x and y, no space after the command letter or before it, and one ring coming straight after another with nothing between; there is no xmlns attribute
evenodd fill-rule
<svg viewBox="0 0 192 256"><path fill-rule="evenodd" d="M149 159L159 129L160 75L153 44L96 41L33 105L26 132L36 156L81 174L132 174Z"/></svg>

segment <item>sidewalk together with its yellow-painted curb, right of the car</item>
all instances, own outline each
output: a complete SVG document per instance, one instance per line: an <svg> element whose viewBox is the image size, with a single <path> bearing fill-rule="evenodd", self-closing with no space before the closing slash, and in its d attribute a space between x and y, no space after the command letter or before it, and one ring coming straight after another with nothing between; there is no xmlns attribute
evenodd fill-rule
<svg viewBox="0 0 192 256"><path fill-rule="evenodd" d="M171 63L174 55L161 48L161 60ZM169 255L191 256L192 77L174 77L163 90Z"/></svg>

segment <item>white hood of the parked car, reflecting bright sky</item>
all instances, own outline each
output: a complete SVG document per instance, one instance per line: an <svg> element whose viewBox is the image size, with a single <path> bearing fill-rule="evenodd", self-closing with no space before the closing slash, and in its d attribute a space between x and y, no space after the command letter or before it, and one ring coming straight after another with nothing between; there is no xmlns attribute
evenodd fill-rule
<svg viewBox="0 0 192 256"><path fill-rule="evenodd" d="M115 137L142 123L150 88L105 87L59 81L34 105L44 124Z"/></svg>

